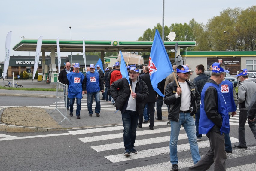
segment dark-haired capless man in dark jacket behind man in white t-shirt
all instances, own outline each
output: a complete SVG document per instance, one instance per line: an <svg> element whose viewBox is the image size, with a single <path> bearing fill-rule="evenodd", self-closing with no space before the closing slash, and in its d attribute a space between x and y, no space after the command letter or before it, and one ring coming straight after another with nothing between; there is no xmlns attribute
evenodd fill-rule
<svg viewBox="0 0 256 171"><path fill-rule="evenodd" d="M194 78L193 83L195 84L197 91L199 93L199 95L201 96L201 92L203 90L203 86L205 85L205 83L207 82L207 79L210 78L209 76L207 76L204 73L204 66L203 65L197 65L196 66L196 70L195 73L198 75L198 77ZM200 141L202 140L202 134L198 133L198 124L199 124L199 118L200 118L200 110L197 110L196 114L196 130L197 130L197 140Z"/></svg>

